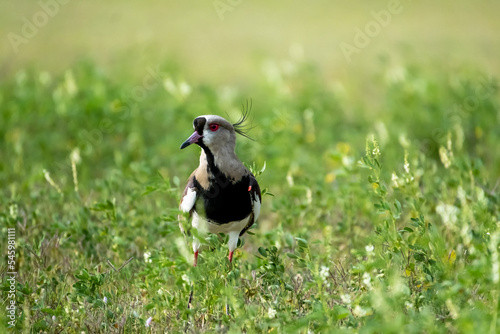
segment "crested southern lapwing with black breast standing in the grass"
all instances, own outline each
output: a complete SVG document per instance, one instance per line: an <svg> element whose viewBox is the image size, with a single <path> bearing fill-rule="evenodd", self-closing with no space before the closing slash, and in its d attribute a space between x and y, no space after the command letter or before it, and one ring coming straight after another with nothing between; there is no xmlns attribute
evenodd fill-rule
<svg viewBox="0 0 500 334"><path fill-rule="evenodd" d="M229 236L229 262L239 237L253 225L260 213L259 184L234 148L236 133L245 137L242 124L231 124L216 115L205 115L193 121L194 133L181 145L201 147L200 165L188 179L180 209L189 212L193 228ZM194 266L198 262L200 242L193 239Z"/></svg>

